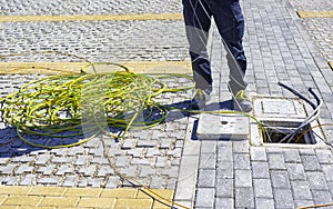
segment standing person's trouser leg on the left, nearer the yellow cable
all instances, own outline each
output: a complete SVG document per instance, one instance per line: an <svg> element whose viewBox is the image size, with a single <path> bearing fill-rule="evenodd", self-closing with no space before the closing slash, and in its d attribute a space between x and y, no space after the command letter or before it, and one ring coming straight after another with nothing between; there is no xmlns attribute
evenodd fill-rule
<svg viewBox="0 0 333 209"><path fill-rule="evenodd" d="M183 13L195 88L210 93L212 74L206 43L211 27L211 12L203 0L183 0Z"/></svg>

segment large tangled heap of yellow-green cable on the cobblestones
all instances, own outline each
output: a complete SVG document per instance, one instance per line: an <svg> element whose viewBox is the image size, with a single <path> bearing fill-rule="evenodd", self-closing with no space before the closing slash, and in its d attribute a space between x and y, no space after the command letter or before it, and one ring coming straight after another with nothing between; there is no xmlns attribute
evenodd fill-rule
<svg viewBox="0 0 333 209"><path fill-rule="evenodd" d="M143 76L119 67L124 71L52 76L24 84L2 99L3 118L29 145L72 147L101 132L122 138L130 128L157 126L164 120L167 107L154 98L193 87L171 89L161 81L163 76ZM112 133L110 127L121 131Z"/></svg>

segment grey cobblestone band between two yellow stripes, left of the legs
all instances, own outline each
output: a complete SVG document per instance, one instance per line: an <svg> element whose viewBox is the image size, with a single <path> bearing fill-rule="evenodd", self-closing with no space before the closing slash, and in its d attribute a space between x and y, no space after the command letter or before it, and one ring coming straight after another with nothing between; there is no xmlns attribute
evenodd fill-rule
<svg viewBox="0 0 333 209"><path fill-rule="evenodd" d="M85 21L1 23L2 54L57 50L90 61L184 60L188 57L182 21ZM13 34L13 36L6 36ZM56 57L57 58L57 57ZM14 61L16 58L7 59ZM20 61L73 61L54 56Z"/></svg>

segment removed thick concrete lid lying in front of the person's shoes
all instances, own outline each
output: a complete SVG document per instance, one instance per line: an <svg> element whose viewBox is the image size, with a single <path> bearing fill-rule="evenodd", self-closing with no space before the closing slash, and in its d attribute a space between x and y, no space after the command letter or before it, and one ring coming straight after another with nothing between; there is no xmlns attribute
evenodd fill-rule
<svg viewBox="0 0 333 209"><path fill-rule="evenodd" d="M209 113L202 113L199 117L196 137L200 140L244 140L248 136L248 117Z"/></svg>

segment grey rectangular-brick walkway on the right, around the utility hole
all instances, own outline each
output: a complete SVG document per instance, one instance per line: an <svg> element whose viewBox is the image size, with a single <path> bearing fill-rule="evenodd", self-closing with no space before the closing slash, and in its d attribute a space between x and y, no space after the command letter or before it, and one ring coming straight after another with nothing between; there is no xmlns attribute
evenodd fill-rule
<svg viewBox="0 0 333 209"><path fill-rule="evenodd" d="M309 47L309 34L297 23L293 8L276 0L253 0L244 1L243 9L249 91L289 98L293 96L278 81L304 93L313 87L326 103L320 120L332 121L332 71L315 47ZM218 31L213 38L212 59L218 68L214 78L219 80L220 76L220 83L225 83L229 73ZM222 101L226 86L220 88ZM332 142L332 128L325 133ZM195 208L297 208L333 201L330 148L254 147L249 140L203 140L199 159Z"/></svg>

